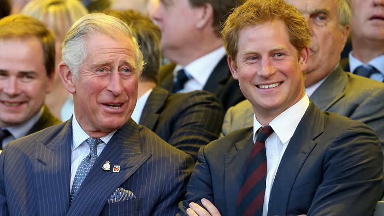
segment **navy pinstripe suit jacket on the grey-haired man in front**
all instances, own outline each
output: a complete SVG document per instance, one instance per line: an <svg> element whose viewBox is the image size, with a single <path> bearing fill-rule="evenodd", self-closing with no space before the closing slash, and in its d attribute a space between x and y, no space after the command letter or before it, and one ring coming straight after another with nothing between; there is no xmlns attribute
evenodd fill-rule
<svg viewBox="0 0 384 216"><path fill-rule="evenodd" d="M171 216L193 168L190 155L132 119L98 156L69 206L72 120L9 143L0 154L1 216ZM101 169L106 161L119 173ZM106 203L118 188L136 198Z"/></svg>

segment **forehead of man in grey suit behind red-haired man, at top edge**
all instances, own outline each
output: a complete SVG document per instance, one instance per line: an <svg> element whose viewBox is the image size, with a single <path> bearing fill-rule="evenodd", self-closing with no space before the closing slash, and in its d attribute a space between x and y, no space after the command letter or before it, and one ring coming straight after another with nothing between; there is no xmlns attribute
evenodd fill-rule
<svg viewBox="0 0 384 216"><path fill-rule="evenodd" d="M337 15L339 0L287 0L287 2L295 5L297 10L303 15L324 12L329 15Z"/></svg>

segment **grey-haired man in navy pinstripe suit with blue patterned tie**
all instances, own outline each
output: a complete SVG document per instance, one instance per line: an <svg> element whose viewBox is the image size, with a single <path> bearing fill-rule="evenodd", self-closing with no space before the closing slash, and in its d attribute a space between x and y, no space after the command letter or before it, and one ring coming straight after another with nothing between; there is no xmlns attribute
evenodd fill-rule
<svg viewBox="0 0 384 216"><path fill-rule="evenodd" d="M120 19L70 28L59 67L74 115L4 148L0 215L175 214L193 160L130 119L142 66Z"/></svg>

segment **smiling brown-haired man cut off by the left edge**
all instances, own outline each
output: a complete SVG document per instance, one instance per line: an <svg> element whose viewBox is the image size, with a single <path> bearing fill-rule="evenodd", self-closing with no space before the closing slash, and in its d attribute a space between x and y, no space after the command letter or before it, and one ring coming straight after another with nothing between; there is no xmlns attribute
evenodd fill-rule
<svg viewBox="0 0 384 216"><path fill-rule="evenodd" d="M44 106L55 76L55 37L37 19L0 20L0 149L60 123Z"/></svg>

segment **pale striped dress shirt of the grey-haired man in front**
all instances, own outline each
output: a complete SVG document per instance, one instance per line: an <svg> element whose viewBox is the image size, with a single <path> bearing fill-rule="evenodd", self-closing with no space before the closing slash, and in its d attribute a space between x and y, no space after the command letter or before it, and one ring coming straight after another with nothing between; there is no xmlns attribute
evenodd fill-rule
<svg viewBox="0 0 384 216"><path fill-rule="evenodd" d="M100 138L102 142L97 144L97 147L96 147L97 156L101 154L101 151L104 149L105 145L108 144L108 142L111 140L115 132L116 131ZM81 128L74 114L72 119L72 138L73 140L72 140L71 179L70 179L71 186L69 188L69 192L72 190L72 183L73 183L73 180L75 179L77 168L79 167L81 161L85 158L85 156L87 156L91 151L87 143L87 139L90 138L90 136L87 133L85 133L83 128Z"/></svg>

